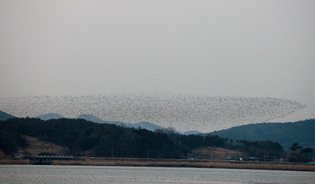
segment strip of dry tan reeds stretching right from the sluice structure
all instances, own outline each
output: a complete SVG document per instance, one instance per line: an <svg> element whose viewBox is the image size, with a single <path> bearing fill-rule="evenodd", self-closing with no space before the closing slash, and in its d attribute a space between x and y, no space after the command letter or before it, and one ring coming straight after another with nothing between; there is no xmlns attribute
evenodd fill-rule
<svg viewBox="0 0 315 184"><path fill-rule="evenodd" d="M136 167L196 167L225 169L255 169L255 170L296 170L315 171L314 164L268 163L268 162L172 162L172 161L123 161L123 160L72 160L55 161L54 165L93 165L93 166L136 166Z"/></svg>

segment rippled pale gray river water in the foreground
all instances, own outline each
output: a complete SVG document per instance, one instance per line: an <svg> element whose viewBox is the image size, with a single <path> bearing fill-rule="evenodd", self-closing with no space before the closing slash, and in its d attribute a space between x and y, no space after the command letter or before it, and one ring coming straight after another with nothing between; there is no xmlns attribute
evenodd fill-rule
<svg viewBox="0 0 315 184"><path fill-rule="evenodd" d="M166 167L0 165L0 183L315 183L315 172Z"/></svg>

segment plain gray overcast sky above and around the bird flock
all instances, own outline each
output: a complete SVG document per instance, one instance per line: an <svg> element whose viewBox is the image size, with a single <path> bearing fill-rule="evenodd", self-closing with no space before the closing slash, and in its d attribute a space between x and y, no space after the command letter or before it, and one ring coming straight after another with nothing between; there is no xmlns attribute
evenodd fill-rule
<svg viewBox="0 0 315 184"><path fill-rule="evenodd" d="M0 95L279 97L315 118L315 1L0 1Z"/></svg>

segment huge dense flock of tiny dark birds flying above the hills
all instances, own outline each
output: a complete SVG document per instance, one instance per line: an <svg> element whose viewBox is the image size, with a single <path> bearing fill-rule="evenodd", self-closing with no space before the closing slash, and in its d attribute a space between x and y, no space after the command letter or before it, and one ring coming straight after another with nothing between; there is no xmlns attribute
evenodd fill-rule
<svg viewBox="0 0 315 184"><path fill-rule="evenodd" d="M304 109L306 105L281 98L119 93L102 95L27 95L0 98L0 110L16 117L58 113L75 118L91 114L106 121L151 122L192 129L219 130L268 122Z"/></svg>

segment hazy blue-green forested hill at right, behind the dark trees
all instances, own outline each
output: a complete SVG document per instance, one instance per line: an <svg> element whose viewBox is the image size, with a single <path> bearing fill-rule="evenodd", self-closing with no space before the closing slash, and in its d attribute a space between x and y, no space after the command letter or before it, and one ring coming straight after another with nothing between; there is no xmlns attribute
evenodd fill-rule
<svg viewBox="0 0 315 184"><path fill-rule="evenodd" d="M315 119L287 123L248 124L209 133L234 140L278 141L285 150L297 142L303 147L315 146Z"/></svg>

